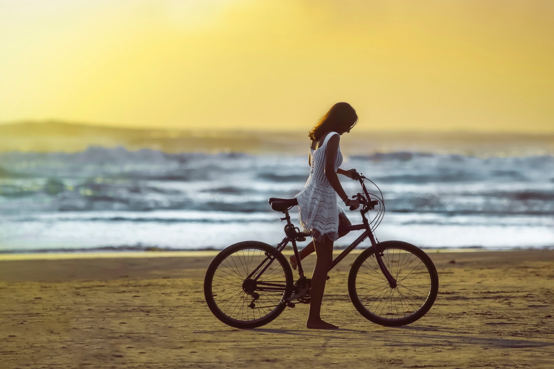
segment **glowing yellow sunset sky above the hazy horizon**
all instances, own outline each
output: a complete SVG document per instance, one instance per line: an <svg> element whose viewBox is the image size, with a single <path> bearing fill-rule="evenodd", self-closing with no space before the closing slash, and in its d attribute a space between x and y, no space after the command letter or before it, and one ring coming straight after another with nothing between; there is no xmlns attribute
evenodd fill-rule
<svg viewBox="0 0 554 369"><path fill-rule="evenodd" d="M0 0L0 122L554 132L554 2Z"/></svg>

